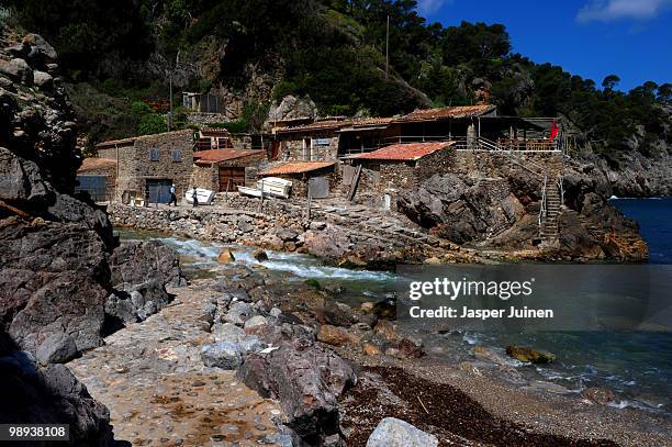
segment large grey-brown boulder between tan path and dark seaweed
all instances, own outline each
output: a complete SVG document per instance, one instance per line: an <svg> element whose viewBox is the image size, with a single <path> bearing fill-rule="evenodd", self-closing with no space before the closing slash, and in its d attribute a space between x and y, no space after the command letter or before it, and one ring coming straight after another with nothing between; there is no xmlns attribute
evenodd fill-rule
<svg viewBox="0 0 672 447"><path fill-rule="evenodd" d="M249 355L237 376L261 395L279 400L287 425L310 445L338 434L337 398L356 381L346 361L307 339Z"/></svg>

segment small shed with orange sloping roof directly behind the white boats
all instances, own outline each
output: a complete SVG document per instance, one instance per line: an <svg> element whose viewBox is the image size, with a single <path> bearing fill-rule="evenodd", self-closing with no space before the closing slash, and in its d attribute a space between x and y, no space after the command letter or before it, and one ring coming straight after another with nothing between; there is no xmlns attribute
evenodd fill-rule
<svg viewBox="0 0 672 447"><path fill-rule="evenodd" d="M261 172L259 177L280 177L292 181L293 197L323 199L336 187L335 161L291 161L273 166Z"/></svg>

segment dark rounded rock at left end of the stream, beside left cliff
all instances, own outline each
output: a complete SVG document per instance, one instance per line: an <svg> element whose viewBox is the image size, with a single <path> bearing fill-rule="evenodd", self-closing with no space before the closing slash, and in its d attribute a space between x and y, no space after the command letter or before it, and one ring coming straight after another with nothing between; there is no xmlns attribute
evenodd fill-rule
<svg viewBox="0 0 672 447"><path fill-rule="evenodd" d="M149 279L163 284L187 284L177 253L158 241L123 242L110 258L110 270L113 286L137 284Z"/></svg>

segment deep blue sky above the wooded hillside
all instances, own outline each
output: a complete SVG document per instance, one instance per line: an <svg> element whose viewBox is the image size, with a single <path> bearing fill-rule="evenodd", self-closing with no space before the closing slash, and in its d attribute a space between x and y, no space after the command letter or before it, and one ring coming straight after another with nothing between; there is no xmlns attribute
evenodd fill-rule
<svg viewBox="0 0 672 447"><path fill-rule="evenodd" d="M506 25L513 51L597 86L672 82L672 0L418 0L428 22Z"/></svg>

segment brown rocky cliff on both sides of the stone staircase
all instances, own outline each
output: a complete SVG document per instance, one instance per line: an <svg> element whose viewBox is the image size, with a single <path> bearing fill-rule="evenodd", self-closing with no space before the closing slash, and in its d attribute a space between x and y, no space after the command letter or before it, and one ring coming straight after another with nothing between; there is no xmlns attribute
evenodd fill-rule
<svg viewBox="0 0 672 447"><path fill-rule="evenodd" d="M475 169L433 176L400 195L400 211L460 245L509 252L541 246L538 256L544 259L648 258L637 223L608 203L614 190L600 166L565 160L557 234L544 241L538 220L542 177L506 157L492 157L491 163L486 174Z"/></svg>

